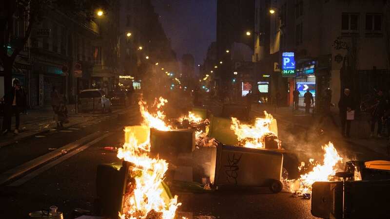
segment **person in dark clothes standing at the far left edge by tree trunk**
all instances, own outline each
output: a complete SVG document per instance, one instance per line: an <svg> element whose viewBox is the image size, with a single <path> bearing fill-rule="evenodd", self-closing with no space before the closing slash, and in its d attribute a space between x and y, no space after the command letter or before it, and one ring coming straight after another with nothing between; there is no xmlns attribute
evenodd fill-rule
<svg viewBox="0 0 390 219"><path fill-rule="evenodd" d="M2 134L11 130L12 115L15 114L15 134L19 134L20 108L23 106L23 94L21 93L18 79L13 81L13 87L4 95L4 118Z"/></svg>

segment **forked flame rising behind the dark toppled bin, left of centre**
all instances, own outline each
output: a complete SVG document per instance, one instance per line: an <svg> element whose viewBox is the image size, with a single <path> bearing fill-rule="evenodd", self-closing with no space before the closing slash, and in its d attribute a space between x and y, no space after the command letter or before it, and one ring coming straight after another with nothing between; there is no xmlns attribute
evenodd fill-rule
<svg viewBox="0 0 390 219"><path fill-rule="evenodd" d="M168 100L160 97L158 101L155 101L155 104L153 106L156 106L156 113L150 113L148 111L148 107L145 101L140 100L138 102L139 105L139 111L141 112L143 122L142 125L150 127L150 128L156 128L160 131L169 131L172 129L171 126L167 125L164 122L165 114L164 111L161 109L162 106L164 106Z"/></svg>

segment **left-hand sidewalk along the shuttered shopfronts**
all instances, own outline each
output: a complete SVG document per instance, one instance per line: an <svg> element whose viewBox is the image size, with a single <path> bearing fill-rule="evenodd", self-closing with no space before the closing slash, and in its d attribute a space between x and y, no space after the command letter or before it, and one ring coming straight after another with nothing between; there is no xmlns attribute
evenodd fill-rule
<svg viewBox="0 0 390 219"><path fill-rule="evenodd" d="M81 123L85 123L93 120L96 117L104 115L100 112L75 113L75 105L67 105L67 108L69 111L69 123L64 124L64 128L69 128ZM123 108L113 109L113 112L117 112L122 109ZM4 136L0 136L0 148L14 143L18 143L18 141L24 138L28 138L34 135L40 135L42 133L50 131L51 129L55 129L57 125L53 117L54 113L51 107L28 110L27 114L20 114L20 133L16 135L13 133L13 130L15 128L15 116L13 116L11 131ZM0 124L2 124L2 118L0 119Z"/></svg>

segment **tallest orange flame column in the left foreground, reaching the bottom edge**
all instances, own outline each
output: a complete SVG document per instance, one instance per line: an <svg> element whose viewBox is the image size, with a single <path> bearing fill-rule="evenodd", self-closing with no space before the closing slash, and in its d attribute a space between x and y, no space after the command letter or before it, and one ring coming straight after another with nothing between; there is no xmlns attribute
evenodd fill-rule
<svg viewBox="0 0 390 219"><path fill-rule="evenodd" d="M121 219L145 219L153 213L162 219L174 219L176 209L181 205L177 202L177 196L169 201L164 197L161 182L168 170L168 163L150 158L149 151L149 140L138 144L134 133L130 133L129 142L118 149L119 159L134 164L131 172L135 180L132 184L134 189L125 195L123 212L119 213Z"/></svg>

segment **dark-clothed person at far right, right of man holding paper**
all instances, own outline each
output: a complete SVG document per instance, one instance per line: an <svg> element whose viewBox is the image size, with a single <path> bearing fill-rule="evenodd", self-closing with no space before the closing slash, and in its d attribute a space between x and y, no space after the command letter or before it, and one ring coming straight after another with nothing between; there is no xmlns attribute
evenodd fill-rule
<svg viewBox="0 0 390 219"><path fill-rule="evenodd" d="M375 130L375 125L376 123L378 124L378 132L377 132L377 137L381 138L382 137L382 120L383 116L385 114L387 104L386 104L386 99L383 96L383 91L378 90L377 96L376 96L376 103L372 106L372 112L371 112L371 134L370 137L374 137L374 130Z"/></svg>

